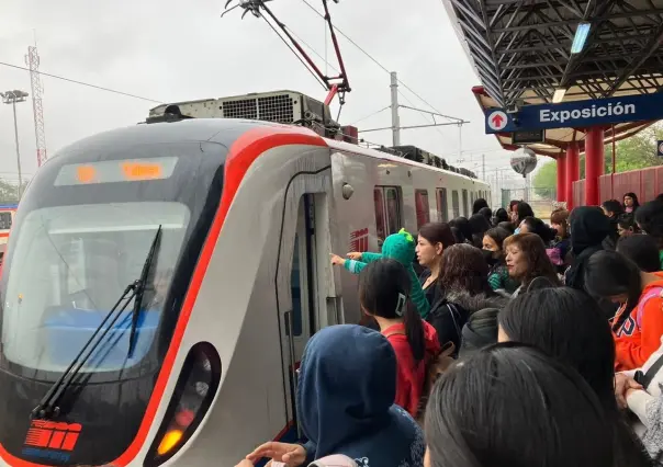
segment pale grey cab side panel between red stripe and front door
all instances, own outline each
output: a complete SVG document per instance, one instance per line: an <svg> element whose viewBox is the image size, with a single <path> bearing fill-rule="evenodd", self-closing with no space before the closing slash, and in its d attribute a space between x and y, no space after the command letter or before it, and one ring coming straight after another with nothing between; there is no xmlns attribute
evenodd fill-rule
<svg viewBox="0 0 663 467"><path fill-rule="evenodd" d="M291 354L282 318L293 307L289 272L296 216L302 195L330 193L330 180L328 148L282 146L262 153L241 181L176 365L179 371L195 343L213 343L222 361L221 388L203 425L168 465L234 465L260 443L289 431ZM321 248L330 247L321 241ZM167 405L165 397L157 420ZM155 423L150 435L157 430Z"/></svg>

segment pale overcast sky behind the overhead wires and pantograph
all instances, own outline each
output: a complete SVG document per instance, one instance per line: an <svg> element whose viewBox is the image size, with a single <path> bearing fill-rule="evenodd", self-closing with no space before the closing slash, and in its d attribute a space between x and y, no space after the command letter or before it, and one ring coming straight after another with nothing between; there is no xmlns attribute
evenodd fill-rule
<svg viewBox="0 0 663 467"><path fill-rule="evenodd" d="M237 1L237 0L233 0ZM319 0L307 0L321 10ZM326 92L268 25L235 11L220 19L225 0L9 0L0 16L0 61L24 66L36 31L41 70L112 88L159 102L292 89L324 100ZM463 127L462 164L481 175L507 169L509 152L483 132L483 115L471 92L479 79L451 27L441 0L340 0L330 4L342 32L441 113L471 121ZM278 18L324 56L323 20L302 0L269 3ZM340 37L352 92L340 123L349 124L390 103L389 73ZM335 57L328 48L328 59ZM324 67L322 59L314 56ZM46 144L49 153L77 139L144 121L156 103L43 77ZM26 71L0 66L0 90L30 92ZM401 88L401 103L431 110ZM409 102L408 102L409 101ZM333 109L336 115L337 107ZM19 104L23 172L36 170L32 101ZM401 123L430 123L402 110ZM391 125L385 111L358 123L360 128ZM391 133L370 133L371 141L391 145ZM402 133L412 144L458 160L456 126ZM542 161L540 161L541 163ZM505 171L505 175L513 172ZM16 179L10 106L0 106L0 178ZM517 180L517 179L516 179Z"/></svg>

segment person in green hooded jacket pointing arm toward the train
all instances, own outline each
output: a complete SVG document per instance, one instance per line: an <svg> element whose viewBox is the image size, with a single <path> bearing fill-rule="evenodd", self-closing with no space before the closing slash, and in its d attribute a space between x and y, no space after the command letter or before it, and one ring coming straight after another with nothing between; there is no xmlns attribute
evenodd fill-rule
<svg viewBox="0 0 663 467"><path fill-rule="evenodd" d="M390 235L382 244L382 253L370 252L352 252L348 253L348 259L340 258L336 254L332 255L332 263L342 265L352 274L359 274L368 263L382 258L391 258L398 261L407 270L411 282L409 297L413 304L417 307L417 311L422 318L426 318L430 311L430 304L426 299L426 294L422 289L422 284L415 274L412 263L415 259L416 242L414 237L405 229L401 229L398 234Z"/></svg>

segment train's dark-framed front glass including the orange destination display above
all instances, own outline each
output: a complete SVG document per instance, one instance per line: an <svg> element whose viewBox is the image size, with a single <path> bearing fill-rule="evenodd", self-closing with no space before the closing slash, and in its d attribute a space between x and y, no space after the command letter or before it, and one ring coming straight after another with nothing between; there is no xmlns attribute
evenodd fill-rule
<svg viewBox="0 0 663 467"><path fill-rule="evenodd" d="M92 145L40 168L0 278L0 371L56 380L98 329L80 369L87 383L158 369L221 200L226 153L204 141L133 144L112 153ZM120 305L117 321L104 322L141 278L159 226L137 322L133 300Z"/></svg>

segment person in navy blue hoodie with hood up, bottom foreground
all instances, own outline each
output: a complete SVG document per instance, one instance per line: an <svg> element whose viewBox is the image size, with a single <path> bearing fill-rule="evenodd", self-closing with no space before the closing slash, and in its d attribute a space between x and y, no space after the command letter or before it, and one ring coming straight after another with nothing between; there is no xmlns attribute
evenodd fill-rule
<svg viewBox="0 0 663 467"><path fill-rule="evenodd" d="M269 442L246 458L288 467L340 454L359 467L423 467L422 429L394 405L396 355L379 332L339 324L306 345L296 391L305 444Z"/></svg>

